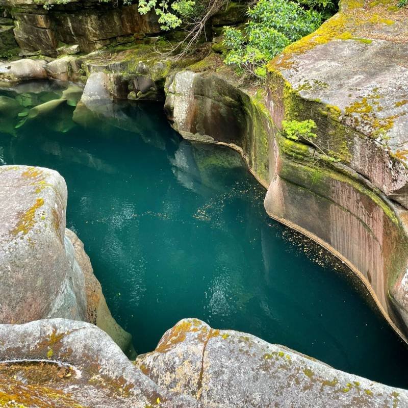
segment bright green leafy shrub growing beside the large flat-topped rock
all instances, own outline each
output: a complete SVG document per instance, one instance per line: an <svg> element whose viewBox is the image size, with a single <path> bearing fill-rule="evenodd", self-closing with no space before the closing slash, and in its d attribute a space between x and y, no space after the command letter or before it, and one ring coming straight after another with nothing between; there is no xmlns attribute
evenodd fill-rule
<svg viewBox="0 0 408 408"><path fill-rule="evenodd" d="M249 8L244 30L224 28L228 49L225 63L246 69L257 77L266 76L266 63L290 43L315 31L324 16L314 8L333 6L331 0L259 0Z"/></svg>

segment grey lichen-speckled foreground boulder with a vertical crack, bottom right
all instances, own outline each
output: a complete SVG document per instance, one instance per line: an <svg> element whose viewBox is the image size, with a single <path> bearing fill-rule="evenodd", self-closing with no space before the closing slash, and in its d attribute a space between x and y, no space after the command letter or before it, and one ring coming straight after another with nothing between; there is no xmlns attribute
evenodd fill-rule
<svg viewBox="0 0 408 408"><path fill-rule="evenodd" d="M159 387L201 406L375 408L408 406L408 392L346 374L283 346L185 319L136 366Z"/></svg>

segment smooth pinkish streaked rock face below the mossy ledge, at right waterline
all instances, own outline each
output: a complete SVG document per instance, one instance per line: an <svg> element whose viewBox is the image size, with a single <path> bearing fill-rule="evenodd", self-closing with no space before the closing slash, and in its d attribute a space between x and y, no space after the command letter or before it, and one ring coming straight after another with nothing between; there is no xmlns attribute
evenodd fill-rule
<svg viewBox="0 0 408 408"><path fill-rule="evenodd" d="M407 262L406 235L392 204L355 174L305 164L283 151L265 197L267 213L335 252L360 275L394 328L405 334L400 322L405 309L395 313L389 297ZM406 293L406 287L399 289Z"/></svg>

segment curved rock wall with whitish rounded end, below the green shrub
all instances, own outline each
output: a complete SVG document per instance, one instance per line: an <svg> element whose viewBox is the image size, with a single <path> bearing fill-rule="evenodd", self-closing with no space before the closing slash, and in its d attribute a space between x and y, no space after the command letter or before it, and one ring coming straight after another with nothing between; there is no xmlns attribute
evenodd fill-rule
<svg viewBox="0 0 408 408"><path fill-rule="evenodd" d="M213 72L175 73L166 82L165 112L184 138L226 144L241 152L257 179L270 180L270 118L262 92L249 93Z"/></svg>

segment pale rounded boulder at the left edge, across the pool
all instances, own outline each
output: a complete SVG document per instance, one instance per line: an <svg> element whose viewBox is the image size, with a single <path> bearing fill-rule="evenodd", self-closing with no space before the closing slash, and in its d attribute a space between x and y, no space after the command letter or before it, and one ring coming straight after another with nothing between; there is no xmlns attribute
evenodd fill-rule
<svg viewBox="0 0 408 408"><path fill-rule="evenodd" d="M0 64L0 81L21 81L47 78L46 61L24 59Z"/></svg>

